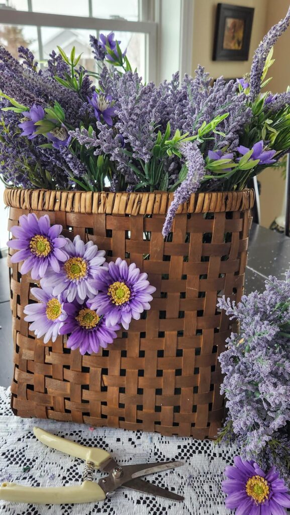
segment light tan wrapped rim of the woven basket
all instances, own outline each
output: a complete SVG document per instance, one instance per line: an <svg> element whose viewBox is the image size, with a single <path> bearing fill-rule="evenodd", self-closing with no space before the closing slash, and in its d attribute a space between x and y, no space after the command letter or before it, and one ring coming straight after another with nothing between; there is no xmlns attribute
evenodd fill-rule
<svg viewBox="0 0 290 515"><path fill-rule="evenodd" d="M27 211L63 211L108 215L165 215L174 193L82 192L5 188L7 206ZM254 191L194 193L181 204L177 214L244 211L254 204Z"/></svg>

